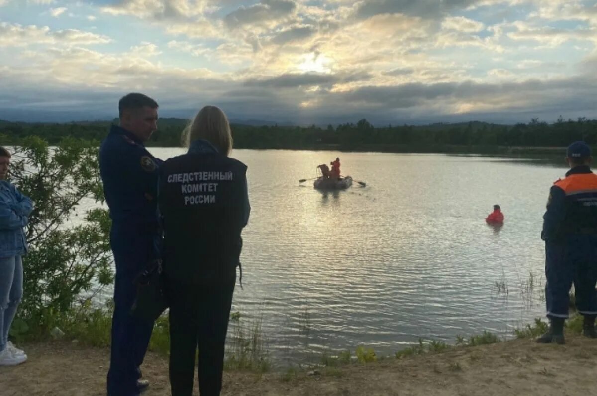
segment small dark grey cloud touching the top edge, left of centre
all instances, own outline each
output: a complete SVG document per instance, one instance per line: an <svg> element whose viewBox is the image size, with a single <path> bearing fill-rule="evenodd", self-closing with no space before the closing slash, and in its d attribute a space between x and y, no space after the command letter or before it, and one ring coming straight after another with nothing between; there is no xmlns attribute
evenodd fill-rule
<svg viewBox="0 0 597 396"><path fill-rule="evenodd" d="M296 10L289 0L263 0L251 7L241 7L224 17L224 23L232 29L248 24L260 24L286 17Z"/></svg>

